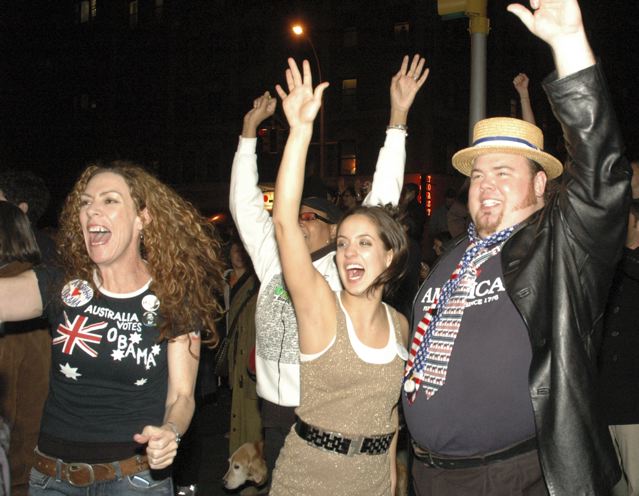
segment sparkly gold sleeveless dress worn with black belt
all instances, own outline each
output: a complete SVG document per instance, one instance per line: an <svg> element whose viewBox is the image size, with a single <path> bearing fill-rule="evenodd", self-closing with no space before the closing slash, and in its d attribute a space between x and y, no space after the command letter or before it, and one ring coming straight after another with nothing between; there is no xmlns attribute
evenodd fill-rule
<svg viewBox="0 0 639 496"><path fill-rule="evenodd" d="M337 297L337 333L319 358L301 362L300 419L346 437L394 432L404 361L365 362L353 349L347 320ZM390 325L386 350L402 342L397 312L386 306ZM360 346L363 346L360 344ZM401 346L401 345L400 345ZM376 350L377 351L377 350ZM388 496L390 453L345 456L310 446L291 429L273 472L271 496Z"/></svg>

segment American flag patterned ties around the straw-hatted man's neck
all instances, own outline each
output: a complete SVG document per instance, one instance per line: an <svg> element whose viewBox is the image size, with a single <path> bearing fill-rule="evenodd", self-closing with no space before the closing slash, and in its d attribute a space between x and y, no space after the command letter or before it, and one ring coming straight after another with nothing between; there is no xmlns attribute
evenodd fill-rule
<svg viewBox="0 0 639 496"><path fill-rule="evenodd" d="M516 227L508 227L481 239L475 224L468 226L470 245L443 285L439 297L435 298L417 324L404 371L404 391L409 403L415 401L420 384L424 385L426 399L430 399L444 385L466 300L477 280L477 269L500 252Z"/></svg>

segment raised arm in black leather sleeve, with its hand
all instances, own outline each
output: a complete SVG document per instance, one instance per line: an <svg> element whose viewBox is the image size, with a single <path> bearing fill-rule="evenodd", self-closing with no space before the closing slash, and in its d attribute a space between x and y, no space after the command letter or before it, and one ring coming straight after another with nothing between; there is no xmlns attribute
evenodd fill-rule
<svg viewBox="0 0 639 496"><path fill-rule="evenodd" d="M531 7L513 4L508 10L553 51L558 78L547 78L543 86L569 154L559 208L599 270L612 270L626 228L630 177L612 100L577 0L535 0Z"/></svg>

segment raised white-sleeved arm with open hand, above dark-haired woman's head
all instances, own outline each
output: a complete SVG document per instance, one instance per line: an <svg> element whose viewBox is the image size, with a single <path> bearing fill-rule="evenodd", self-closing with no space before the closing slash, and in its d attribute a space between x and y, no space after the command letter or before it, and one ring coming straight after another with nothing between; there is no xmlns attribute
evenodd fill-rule
<svg viewBox="0 0 639 496"><path fill-rule="evenodd" d="M417 92L426 82L429 69L426 60L415 55L410 62L406 55L390 84L391 112L386 141L379 152L373 184L364 199L365 205L399 203L406 164L406 123Z"/></svg>

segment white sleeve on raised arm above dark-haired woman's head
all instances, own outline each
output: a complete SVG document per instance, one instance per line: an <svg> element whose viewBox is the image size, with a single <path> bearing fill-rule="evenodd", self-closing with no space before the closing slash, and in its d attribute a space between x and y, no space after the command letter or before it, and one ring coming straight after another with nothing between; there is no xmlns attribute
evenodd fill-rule
<svg viewBox="0 0 639 496"><path fill-rule="evenodd" d="M387 129L386 141L379 150L373 185L364 198L364 205L397 205L404 184L406 165L406 133L400 129Z"/></svg>

